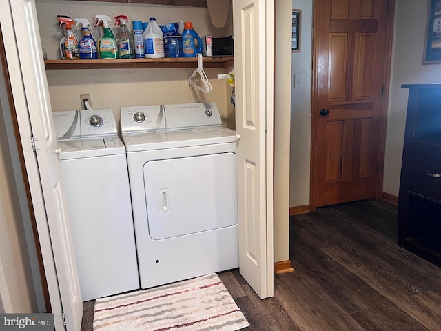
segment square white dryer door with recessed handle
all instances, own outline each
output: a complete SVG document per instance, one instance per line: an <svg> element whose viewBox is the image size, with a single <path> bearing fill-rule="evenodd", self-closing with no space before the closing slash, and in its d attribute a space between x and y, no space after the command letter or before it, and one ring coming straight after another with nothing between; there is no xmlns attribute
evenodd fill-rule
<svg viewBox="0 0 441 331"><path fill-rule="evenodd" d="M148 161L143 172L152 239L237 224L236 154Z"/></svg>

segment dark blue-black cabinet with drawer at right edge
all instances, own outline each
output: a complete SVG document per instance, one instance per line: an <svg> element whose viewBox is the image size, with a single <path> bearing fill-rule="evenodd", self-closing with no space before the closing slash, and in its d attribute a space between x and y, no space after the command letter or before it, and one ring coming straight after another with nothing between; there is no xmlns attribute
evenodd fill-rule
<svg viewBox="0 0 441 331"><path fill-rule="evenodd" d="M409 88L398 199L398 243L441 266L441 85Z"/></svg>

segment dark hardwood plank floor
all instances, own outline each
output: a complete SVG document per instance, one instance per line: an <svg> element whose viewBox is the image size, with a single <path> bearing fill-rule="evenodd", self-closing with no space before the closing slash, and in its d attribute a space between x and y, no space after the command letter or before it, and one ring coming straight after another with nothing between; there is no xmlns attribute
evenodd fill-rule
<svg viewBox="0 0 441 331"><path fill-rule="evenodd" d="M238 270L219 277L246 330L441 330L441 268L397 245L396 207L358 201L291 217L295 272L260 300ZM92 330L93 301L81 330Z"/></svg>

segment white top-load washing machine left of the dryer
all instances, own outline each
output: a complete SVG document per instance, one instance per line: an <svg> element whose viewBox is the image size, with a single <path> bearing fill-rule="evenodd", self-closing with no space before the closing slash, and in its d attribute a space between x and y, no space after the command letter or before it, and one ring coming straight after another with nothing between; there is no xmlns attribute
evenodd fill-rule
<svg viewBox="0 0 441 331"><path fill-rule="evenodd" d="M112 110L53 117L83 301L137 289L127 159Z"/></svg>

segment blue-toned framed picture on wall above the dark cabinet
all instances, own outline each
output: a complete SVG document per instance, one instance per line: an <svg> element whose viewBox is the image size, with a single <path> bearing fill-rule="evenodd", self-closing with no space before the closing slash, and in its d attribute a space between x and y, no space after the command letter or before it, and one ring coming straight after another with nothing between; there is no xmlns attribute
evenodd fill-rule
<svg viewBox="0 0 441 331"><path fill-rule="evenodd" d="M430 0L423 64L441 63L441 0Z"/></svg>

